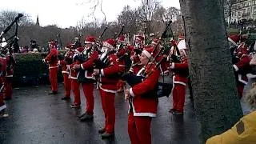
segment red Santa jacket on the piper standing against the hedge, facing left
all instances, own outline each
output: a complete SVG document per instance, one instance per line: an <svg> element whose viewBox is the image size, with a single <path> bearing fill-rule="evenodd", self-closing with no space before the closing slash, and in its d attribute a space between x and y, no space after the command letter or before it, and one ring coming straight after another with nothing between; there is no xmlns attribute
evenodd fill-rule
<svg viewBox="0 0 256 144"><path fill-rule="evenodd" d="M55 48L50 49L50 53L46 56L45 61L49 63L49 69L58 67L58 50Z"/></svg>

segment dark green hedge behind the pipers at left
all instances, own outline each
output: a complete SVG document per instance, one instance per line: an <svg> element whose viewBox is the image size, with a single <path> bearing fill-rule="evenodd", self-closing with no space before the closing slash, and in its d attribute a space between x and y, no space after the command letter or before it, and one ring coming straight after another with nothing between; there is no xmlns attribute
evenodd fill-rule
<svg viewBox="0 0 256 144"><path fill-rule="evenodd" d="M46 53L14 54L16 66L14 70L14 86L27 86L49 83L47 64L42 62ZM58 80L62 81L61 70Z"/></svg>

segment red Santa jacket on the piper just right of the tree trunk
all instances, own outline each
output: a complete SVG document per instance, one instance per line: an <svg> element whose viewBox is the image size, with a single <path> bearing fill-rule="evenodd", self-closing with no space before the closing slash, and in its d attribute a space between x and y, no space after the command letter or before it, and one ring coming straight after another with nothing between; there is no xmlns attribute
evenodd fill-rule
<svg viewBox="0 0 256 144"><path fill-rule="evenodd" d="M237 82L242 82L245 85L248 83L246 74L250 72L250 59L248 55L244 54L238 62L233 65Z"/></svg>

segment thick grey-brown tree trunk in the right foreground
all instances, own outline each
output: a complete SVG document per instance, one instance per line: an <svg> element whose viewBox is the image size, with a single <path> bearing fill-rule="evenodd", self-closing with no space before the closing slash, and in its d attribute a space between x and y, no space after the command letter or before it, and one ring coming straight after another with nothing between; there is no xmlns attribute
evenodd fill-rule
<svg viewBox="0 0 256 144"><path fill-rule="evenodd" d="M222 2L180 0L200 143L230 129L242 117Z"/></svg>

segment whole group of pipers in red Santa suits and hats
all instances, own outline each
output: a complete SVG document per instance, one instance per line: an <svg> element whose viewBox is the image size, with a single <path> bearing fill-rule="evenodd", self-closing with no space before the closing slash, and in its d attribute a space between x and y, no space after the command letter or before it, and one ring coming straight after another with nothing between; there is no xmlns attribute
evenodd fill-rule
<svg viewBox="0 0 256 144"><path fill-rule="evenodd" d="M190 82L184 34L179 34L178 41L171 38L166 42L163 38L154 38L154 34L150 34L150 38L147 41L149 43L146 43L144 34L136 34L134 43L130 44L122 34L103 42L99 42L94 36L87 36L84 46L77 39L74 43L67 44L66 53L62 56L58 54L57 43L49 42L50 53L42 59L49 64L49 94L58 94L57 74L58 67L61 66L65 91L62 100L70 100L73 94L74 102L70 107L81 108L79 88L82 85L86 112L79 118L81 122L88 122L94 118L94 89L98 89L105 115L105 124L98 133L102 138L110 138L114 135L115 94L123 92L129 106L128 134L131 143L150 144L151 121L157 116L158 98L162 97L158 94L159 78L172 78L169 83L172 87L167 85L170 86L171 93L167 93L167 96L172 96L173 103L169 112L174 115L184 114L186 86ZM241 34L232 35L228 39L238 95L242 98L243 87L248 78L256 78L252 68L256 65L256 44L248 48L245 44L246 35ZM0 60L8 63L8 58ZM1 69L6 70L3 66ZM11 74L7 70L6 75L1 75L1 80L5 81L4 87L8 87L6 83ZM0 95L0 110L4 116L6 105L1 98L8 97Z"/></svg>

